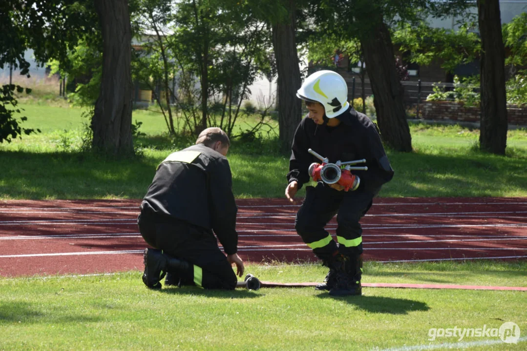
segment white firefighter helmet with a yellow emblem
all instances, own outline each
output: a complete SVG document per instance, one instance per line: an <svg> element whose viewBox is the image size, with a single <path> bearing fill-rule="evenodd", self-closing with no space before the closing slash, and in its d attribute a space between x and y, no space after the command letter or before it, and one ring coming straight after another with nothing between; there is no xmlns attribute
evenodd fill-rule
<svg viewBox="0 0 527 351"><path fill-rule="evenodd" d="M333 71L318 71L306 78L298 89L297 97L324 106L328 118L343 114L349 107L348 85Z"/></svg>

